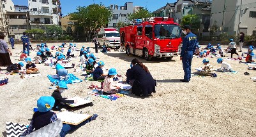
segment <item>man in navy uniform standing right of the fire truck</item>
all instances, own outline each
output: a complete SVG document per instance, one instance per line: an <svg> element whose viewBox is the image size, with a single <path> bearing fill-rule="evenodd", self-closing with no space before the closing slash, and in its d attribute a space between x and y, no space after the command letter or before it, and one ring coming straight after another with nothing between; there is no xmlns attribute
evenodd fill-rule
<svg viewBox="0 0 256 137"><path fill-rule="evenodd" d="M191 32L189 25L183 26L183 33L186 37L183 38L183 46L181 47L181 60L184 70L184 79L181 79L181 82L190 82L191 62L197 46L197 36Z"/></svg>

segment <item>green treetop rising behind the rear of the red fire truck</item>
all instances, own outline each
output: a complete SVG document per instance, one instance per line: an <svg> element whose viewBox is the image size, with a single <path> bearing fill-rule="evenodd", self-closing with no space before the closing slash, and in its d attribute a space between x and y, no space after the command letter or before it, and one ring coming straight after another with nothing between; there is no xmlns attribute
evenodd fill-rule
<svg viewBox="0 0 256 137"><path fill-rule="evenodd" d="M149 18L152 17L153 14L150 13L149 10L147 10L147 8L140 8L139 11L132 13L132 14L128 14L128 20L134 20L137 18Z"/></svg>

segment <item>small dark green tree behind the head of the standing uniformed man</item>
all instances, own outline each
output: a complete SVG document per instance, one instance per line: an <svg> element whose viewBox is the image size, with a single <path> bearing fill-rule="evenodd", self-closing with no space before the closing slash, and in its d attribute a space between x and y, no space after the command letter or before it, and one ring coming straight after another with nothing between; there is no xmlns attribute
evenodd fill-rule
<svg viewBox="0 0 256 137"><path fill-rule="evenodd" d="M195 14L183 16L181 20L181 25L190 25L192 29L199 29L200 18Z"/></svg>

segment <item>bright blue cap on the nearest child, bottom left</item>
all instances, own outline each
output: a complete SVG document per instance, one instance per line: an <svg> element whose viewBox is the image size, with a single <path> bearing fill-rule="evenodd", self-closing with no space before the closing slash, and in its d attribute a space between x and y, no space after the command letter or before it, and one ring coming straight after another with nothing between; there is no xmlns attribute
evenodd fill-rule
<svg viewBox="0 0 256 137"><path fill-rule="evenodd" d="M54 107L55 100L52 96L41 96L37 100L37 107L39 112L48 112Z"/></svg>

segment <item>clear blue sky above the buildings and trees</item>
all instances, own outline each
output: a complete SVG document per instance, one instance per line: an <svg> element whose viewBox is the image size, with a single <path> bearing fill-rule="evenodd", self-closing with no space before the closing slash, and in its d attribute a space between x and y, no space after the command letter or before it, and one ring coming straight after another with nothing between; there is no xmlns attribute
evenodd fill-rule
<svg viewBox="0 0 256 137"><path fill-rule="evenodd" d="M26 5L27 0L12 0L14 4ZM124 6L126 2L133 2L133 6L144 6L150 11L158 10L167 3L174 3L176 0L61 0L62 13L66 15L67 13L72 13L76 11L77 6L88 6L89 4L99 4L102 2L105 6L110 4L117 4L118 6Z"/></svg>

